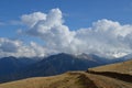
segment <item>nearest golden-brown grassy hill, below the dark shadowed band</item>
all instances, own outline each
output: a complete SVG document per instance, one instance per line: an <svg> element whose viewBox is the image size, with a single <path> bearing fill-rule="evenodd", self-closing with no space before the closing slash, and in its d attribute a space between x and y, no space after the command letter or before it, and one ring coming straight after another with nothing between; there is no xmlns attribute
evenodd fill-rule
<svg viewBox="0 0 132 88"><path fill-rule="evenodd" d="M131 88L132 84L85 72L66 73L52 77L29 78L7 84L0 88Z"/></svg>

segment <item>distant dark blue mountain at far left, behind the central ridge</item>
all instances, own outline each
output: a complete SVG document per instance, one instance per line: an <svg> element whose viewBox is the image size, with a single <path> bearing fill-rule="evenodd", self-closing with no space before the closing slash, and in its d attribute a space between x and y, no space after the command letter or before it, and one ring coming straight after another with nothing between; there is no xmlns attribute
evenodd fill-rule
<svg viewBox="0 0 132 88"><path fill-rule="evenodd" d="M16 58L13 56L9 56L9 57L0 58L0 77L3 75L15 73L19 69L28 65L34 64L37 61L35 59L31 59L26 57Z"/></svg>

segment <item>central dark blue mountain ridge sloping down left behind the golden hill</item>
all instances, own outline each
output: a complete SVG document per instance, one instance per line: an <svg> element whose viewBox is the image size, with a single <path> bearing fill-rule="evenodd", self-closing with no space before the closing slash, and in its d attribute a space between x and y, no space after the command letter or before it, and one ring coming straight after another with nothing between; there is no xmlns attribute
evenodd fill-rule
<svg viewBox="0 0 132 88"><path fill-rule="evenodd" d="M87 70L87 68L90 67L97 67L111 63L117 63L117 61L114 62L111 59L99 57L97 55L81 54L79 56L75 56L61 53L57 55L51 55L36 63L30 64L15 73L4 75L0 77L0 82L29 77L53 76L70 70Z"/></svg>

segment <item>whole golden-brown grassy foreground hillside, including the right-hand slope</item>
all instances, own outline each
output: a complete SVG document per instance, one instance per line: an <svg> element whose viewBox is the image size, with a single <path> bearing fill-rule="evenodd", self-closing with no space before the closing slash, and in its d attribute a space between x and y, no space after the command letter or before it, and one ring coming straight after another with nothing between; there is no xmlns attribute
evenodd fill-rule
<svg viewBox="0 0 132 88"><path fill-rule="evenodd" d="M96 68L90 68L97 74L90 72L68 72L51 77L34 77L23 80L1 84L0 88L131 88L132 75L128 74L128 68L132 67L132 61L112 64ZM125 70L120 67L125 66ZM101 68L103 68L101 70ZM113 73L117 69L116 73ZM111 77L106 74L98 73L108 72L116 76ZM125 72L125 74L123 74ZM125 79L124 77L129 77ZM122 79L124 78L124 79Z"/></svg>

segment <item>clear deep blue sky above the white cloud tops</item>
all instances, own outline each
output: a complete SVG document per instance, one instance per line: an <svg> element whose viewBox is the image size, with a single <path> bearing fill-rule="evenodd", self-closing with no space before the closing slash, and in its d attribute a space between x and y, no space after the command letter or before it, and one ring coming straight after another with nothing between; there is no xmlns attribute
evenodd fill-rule
<svg viewBox="0 0 132 88"><path fill-rule="evenodd" d="M35 11L48 12L59 8L65 14L65 23L72 30L87 28L100 19L110 19L120 23L132 23L131 0L0 0L0 21L19 20L22 14ZM15 29L1 26L0 29ZM3 30L0 30L4 32Z"/></svg>

